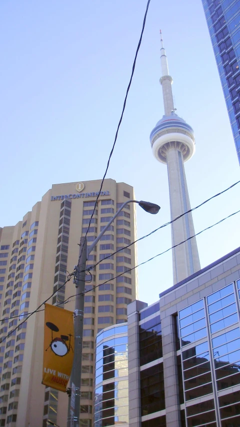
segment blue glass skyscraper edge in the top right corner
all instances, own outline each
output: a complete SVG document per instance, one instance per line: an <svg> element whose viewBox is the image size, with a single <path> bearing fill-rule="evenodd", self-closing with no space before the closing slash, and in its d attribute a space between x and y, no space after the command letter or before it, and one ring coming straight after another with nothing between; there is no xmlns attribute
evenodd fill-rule
<svg viewBox="0 0 240 427"><path fill-rule="evenodd" d="M240 163L240 2L202 0Z"/></svg>

